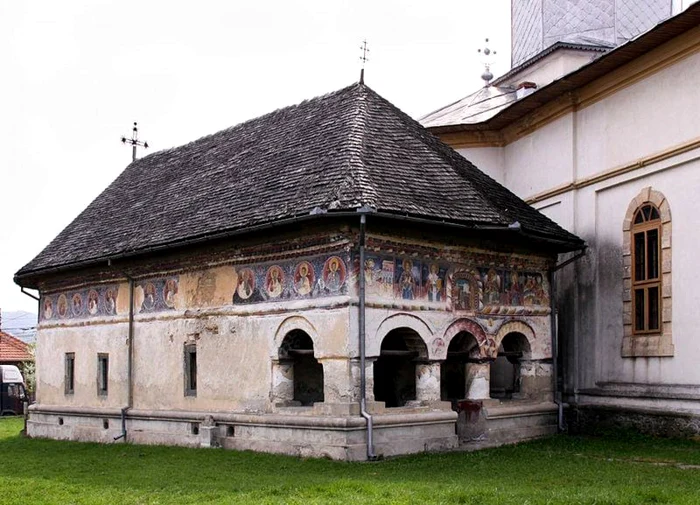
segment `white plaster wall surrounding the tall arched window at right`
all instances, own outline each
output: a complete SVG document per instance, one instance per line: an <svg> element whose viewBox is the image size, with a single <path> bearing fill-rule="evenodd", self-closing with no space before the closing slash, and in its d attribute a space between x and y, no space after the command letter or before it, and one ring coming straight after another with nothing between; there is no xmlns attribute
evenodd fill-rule
<svg viewBox="0 0 700 505"><path fill-rule="evenodd" d="M506 186L523 198L634 164L700 138L700 54L691 55L505 147ZM472 158L476 155L470 153ZM700 246L700 152L680 153L535 204L588 242L574 268L576 388L599 382L700 384L698 302L692 272ZM672 358L622 358L622 220L647 186L662 192L673 225ZM564 278L568 274L563 274ZM569 335L568 338L573 338ZM574 357L575 354L575 357Z"/></svg>

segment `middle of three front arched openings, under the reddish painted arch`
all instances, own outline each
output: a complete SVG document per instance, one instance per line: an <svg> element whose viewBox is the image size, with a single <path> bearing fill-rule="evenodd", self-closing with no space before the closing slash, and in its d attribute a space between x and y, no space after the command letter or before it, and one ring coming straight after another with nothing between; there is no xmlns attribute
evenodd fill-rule
<svg viewBox="0 0 700 505"><path fill-rule="evenodd" d="M440 397L451 401L455 407L458 400L467 398L468 367L479 357L479 343L474 335L461 331L447 347L447 359L440 365Z"/></svg>

